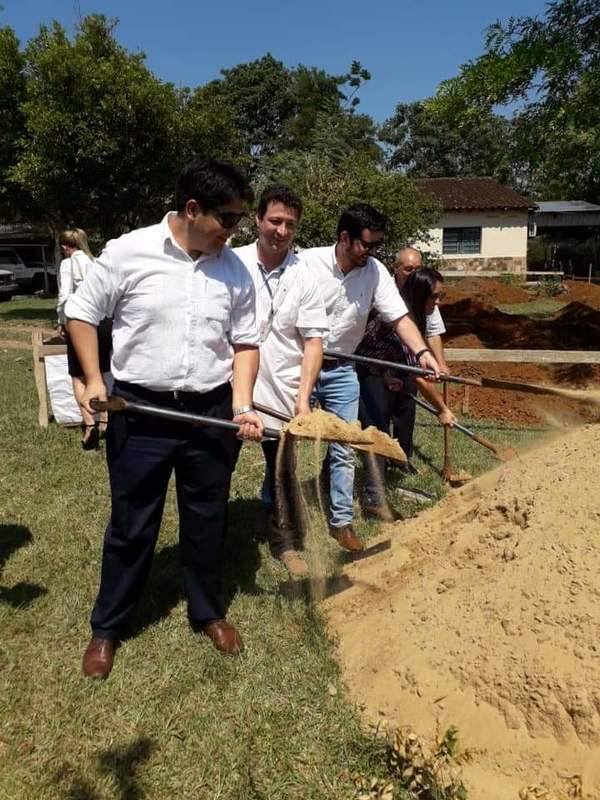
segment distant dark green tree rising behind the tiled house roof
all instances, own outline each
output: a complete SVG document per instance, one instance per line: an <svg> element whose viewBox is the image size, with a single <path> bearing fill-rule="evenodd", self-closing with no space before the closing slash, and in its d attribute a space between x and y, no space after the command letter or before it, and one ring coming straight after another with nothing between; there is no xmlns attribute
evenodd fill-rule
<svg viewBox="0 0 600 800"><path fill-rule="evenodd" d="M513 124L484 110L453 124L431 112L427 103L399 103L379 131L391 146L388 163L416 178L488 175L514 184Z"/></svg>

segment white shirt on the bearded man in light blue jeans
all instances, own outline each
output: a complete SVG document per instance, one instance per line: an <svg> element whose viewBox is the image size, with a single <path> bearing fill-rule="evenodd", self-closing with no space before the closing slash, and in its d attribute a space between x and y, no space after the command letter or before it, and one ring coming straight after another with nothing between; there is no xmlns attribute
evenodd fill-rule
<svg viewBox="0 0 600 800"><path fill-rule="evenodd" d="M392 276L376 258L370 256L364 267L355 267L346 274L336 263L335 245L303 250L300 259L316 278L323 295L330 330L328 350L354 353L372 308L385 322L408 314Z"/></svg>

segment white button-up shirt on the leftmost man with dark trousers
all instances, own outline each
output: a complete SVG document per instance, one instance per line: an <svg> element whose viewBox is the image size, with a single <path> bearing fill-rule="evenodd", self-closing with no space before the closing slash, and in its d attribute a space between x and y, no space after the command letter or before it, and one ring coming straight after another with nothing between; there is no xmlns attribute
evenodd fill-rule
<svg viewBox="0 0 600 800"><path fill-rule="evenodd" d="M208 392L232 376L233 345L258 346L254 284L228 247L196 261L169 226L108 242L65 314L114 317L111 371L156 391Z"/></svg>

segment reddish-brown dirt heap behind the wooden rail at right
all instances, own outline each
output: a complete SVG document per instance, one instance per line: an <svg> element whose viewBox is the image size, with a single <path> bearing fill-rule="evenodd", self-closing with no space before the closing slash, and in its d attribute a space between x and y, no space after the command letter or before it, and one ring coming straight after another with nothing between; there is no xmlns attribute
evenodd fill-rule
<svg viewBox="0 0 600 800"><path fill-rule="evenodd" d="M600 287L573 281L567 282L567 287L571 302L551 319L531 320L494 308L499 302L524 302L516 293L532 299L524 290L483 278L465 279L446 294L442 313L448 333L444 344L498 350L600 350ZM474 296L468 296L469 290ZM509 292L515 293L514 299L505 299ZM452 370L469 377L565 387L585 388L600 383L600 366L586 364L453 363ZM462 396L461 387L452 387L451 402L459 411ZM562 398L483 388L470 390L468 413L475 418L533 425L558 421L572 424L596 417L593 411Z"/></svg>

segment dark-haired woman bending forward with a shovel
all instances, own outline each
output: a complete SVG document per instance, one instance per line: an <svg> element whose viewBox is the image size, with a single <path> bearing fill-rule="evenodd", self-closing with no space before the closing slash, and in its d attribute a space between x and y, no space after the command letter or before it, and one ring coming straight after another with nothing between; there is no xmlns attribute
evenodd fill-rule
<svg viewBox="0 0 600 800"><path fill-rule="evenodd" d="M423 336L426 333L427 318L433 314L440 301L443 280L442 275L436 269L421 267L409 275L401 289L402 298ZM365 336L356 352L359 355L380 358L384 361L397 361L409 366L418 366L415 355L406 345L402 344L394 331L390 330L389 326L378 316L372 319L367 326ZM378 367L359 367L357 373L360 382L359 419L364 427L375 425L387 433L393 419L396 393L414 394L416 387L435 406L442 425L452 426L454 424L454 414L444 403L442 395L433 384L424 378L414 378L407 373ZM416 407L414 400L413 407ZM412 421L409 420L409 425L406 426L410 426L410 430L403 432L406 434L402 436L404 442L412 442L414 418L413 413ZM401 441L400 444L402 446L403 442ZM382 457L376 457L374 460L365 459L364 463L363 511L367 516L386 522L392 521L395 517L387 506L383 488L385 459Z"/></svg>

